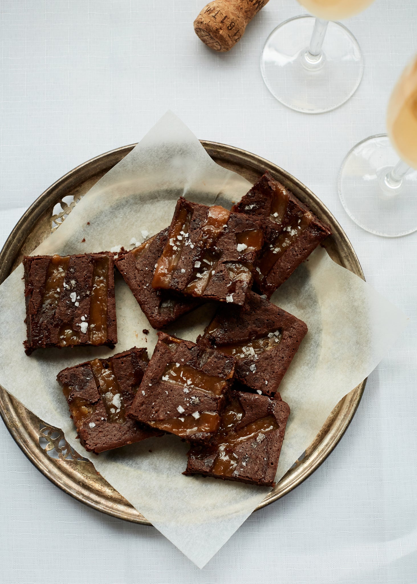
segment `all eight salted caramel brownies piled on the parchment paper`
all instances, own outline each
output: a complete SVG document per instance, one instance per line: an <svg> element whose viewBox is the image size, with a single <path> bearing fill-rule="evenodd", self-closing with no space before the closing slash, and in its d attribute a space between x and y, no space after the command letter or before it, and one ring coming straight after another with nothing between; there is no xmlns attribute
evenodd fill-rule
<svg viewBox="0 0 417 584"><path fill-rule="evenodd" d="M27 256L26 353L114 347L113 265L155 329L216 301L196 343L159 332L151 359L134 347L57 379L86 450L168 432L190 443L184 474L273 486L290 413L278 387L307 326L269 298L329 234L266 173L231 211L181 197L171 225L130 251Z"/></svg>

